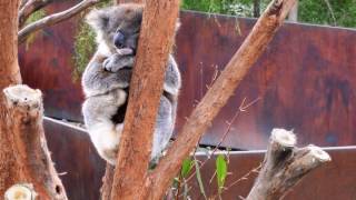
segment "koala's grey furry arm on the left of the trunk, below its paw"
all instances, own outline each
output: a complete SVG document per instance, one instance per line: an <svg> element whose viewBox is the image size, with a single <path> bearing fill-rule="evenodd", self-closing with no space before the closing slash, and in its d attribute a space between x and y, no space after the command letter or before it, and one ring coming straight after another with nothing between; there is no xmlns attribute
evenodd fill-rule
<svg viewBox="0 0 356 200"><path fill-rule="evenodd" d="M96 53L87 66L81 84L87 97L103 94L117 88L127 88L130 83L131 70L121 69L115 73L106 71L103 61L108 57Z"/></svg>

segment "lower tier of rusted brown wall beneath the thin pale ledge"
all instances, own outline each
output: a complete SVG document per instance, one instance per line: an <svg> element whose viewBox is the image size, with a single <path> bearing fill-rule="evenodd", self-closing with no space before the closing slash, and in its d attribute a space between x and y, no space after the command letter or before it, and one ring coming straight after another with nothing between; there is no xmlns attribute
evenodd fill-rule
<svg viewBox="0 0 356 200"><path fill-rule="evenodd" d="M52 159L71 200L98 200L105 163L90 143L88 134L78 128L44 120L44 130ZM285 198L288 200L348 200L356 197L356 147L328 149L333 161L313 171ZM263 151L230 152L226 186L238 180L263 161ZM205 156L198 159L205 160ZM215 158L201 168L205 191L216 194ZM239 199L250 190L256 173L222 193L222 199ZM211 179L211 182L210 182ZM191 199L204 199L196 179L189 182Z"/></svg>

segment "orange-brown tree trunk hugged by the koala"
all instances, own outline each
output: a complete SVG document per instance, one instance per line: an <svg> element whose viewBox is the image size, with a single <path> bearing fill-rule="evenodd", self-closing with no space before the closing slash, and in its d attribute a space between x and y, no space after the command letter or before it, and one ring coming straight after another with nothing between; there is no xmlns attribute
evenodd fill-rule
<svg viewBox="0 0 356 200"><path fill-rule="evenodd" d="M146 1L111 199L145 199L141 193L178 12L179 0Z"/></svg>

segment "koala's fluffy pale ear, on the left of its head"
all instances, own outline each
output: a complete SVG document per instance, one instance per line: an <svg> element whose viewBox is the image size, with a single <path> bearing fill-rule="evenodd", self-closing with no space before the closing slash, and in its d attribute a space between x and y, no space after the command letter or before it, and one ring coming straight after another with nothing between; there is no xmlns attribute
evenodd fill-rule
<svg viewBox="0 0 356 200"><path fill-rule="evenodd" d="M93 9L86 16L86 21L97 31L102 31L108 27L109 14L106 10Z"/></svg>

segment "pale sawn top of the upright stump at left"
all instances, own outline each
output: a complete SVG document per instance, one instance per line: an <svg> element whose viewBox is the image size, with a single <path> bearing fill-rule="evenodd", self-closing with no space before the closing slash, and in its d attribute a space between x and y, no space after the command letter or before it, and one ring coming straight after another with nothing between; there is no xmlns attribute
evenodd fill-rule
<svg viewBox="0 0 356 200"><path fill-rule="evenodd" d="M26 84L11 86L3 89L9 108L22 109L31 113L41 109L42 92Z"/></svg>

